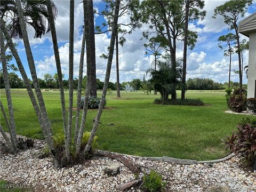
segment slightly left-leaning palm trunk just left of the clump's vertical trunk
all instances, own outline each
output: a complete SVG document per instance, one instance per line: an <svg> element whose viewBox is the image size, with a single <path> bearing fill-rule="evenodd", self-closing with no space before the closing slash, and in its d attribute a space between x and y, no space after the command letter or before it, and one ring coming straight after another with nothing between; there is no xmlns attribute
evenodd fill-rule
<svg viewBox="0 0 256 192"><path fill-rule="evenodd" d="M56 29L55 29L55 24L54 24L54 17L53 17L50 1L46 1L46 6L47 6L48 14L49 14L49 24L51 27L53 50L54 50L55 63L56 63L57 74L58 74L58 83L59 83L59 90L60 90L60 101L61 101L61 110L62 110L62 119L63 119L63 130L64 130L64 135L65 135L65 152L66 152L67 159L69 159L69 146L68 146L68 140L67 140L66 103L65 103L65 93L64 93L64 87L63 87L62 71L61 71L61 65L60 65L59 47L58 47Z"/></svg>

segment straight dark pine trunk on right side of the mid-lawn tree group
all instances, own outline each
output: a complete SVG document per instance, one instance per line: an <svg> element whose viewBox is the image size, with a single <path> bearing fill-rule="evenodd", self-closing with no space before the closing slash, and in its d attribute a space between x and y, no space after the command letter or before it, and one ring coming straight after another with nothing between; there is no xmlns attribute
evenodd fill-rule
<svg viewBox="0 0 256 192"><path fill-rule="evenodd" d="M184 30L184 48L183 48L183 67L182 67L182 87L181 87L181 99L185 99L186 93L186 73L187 73L187 45L188 45L188 14L189 14L189 2L186 1L186 15L185 15L185 30Z"/></svg>

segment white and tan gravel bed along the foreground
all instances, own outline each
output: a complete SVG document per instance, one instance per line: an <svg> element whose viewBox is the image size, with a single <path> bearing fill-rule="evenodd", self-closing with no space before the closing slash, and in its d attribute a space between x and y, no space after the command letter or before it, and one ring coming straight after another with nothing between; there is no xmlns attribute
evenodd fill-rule
<svg viewBox="0 0 256 192"><path fill-rule="evenodd" d="M35 157L44 145L44 141L35 140L32 149L15 155L1 154L0 179L23 183L31 186L32 191L117 191L118 185L134 179L134 174L123 164L119 174L105 174L102 165L115 161L105 157L93 157L79 165L56 169L51 157ZM206 164L179 165L129 158L145 172L153 169L161 173L166 181L165 191L205 191L207 187L215 185L227 186L232 191L256 191L256 173L243 169L236 157L215 163L213 167ZM142 190L132 187L127 191Z"/></svg>

